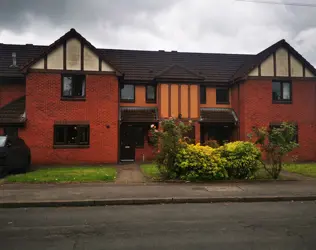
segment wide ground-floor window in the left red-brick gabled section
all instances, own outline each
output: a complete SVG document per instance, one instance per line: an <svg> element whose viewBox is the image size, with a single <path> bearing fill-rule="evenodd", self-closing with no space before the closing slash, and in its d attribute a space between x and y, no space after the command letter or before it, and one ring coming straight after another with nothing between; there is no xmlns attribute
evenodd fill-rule
<svg viewBox="0 0 316 250"><path fill-rule="evenodd" d="M89 135L89 125L55 125L54 145L87 146Z"/></svg>

